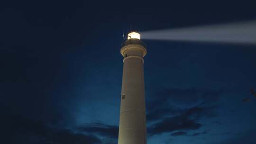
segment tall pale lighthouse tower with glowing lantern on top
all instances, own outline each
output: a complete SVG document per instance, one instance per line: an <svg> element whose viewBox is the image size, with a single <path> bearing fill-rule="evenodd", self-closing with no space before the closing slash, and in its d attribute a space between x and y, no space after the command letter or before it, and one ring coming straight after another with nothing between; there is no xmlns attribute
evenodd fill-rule
<svg viewBox="0 0 256 144"><path fill-rule="evenodd" d="M146 46L137 32L130 32L120 52L124 57L124 65L118 144L146 144L143 69Z"/></svg>

